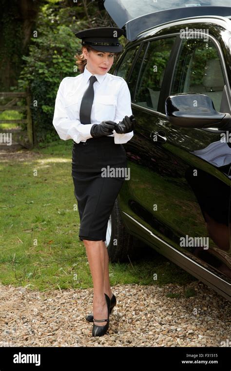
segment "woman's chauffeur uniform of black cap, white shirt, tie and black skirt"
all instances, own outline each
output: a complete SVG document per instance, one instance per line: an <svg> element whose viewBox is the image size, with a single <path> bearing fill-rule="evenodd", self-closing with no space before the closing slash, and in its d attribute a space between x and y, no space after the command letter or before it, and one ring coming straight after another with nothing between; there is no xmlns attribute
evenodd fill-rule
<svg viewBox="0 0 231 371"><path fill-rule="evenodd" d="M121 51L118 37L123 30L103 27L76 34L82 45L107 52ZM87 98L86 98L87 96ZM85 98L86 99L85 99ZM93 137L93 125L102 121L117 124L132 115L131 96L126 81L110 73L92 75L85 66L76 77L65 77L58 88L53 125L61 139L73 139L72 177L80 218L80 240L106 240L108 219L124 176L101 176L102 168L127 167L123 143L133 131Z"/></svg>

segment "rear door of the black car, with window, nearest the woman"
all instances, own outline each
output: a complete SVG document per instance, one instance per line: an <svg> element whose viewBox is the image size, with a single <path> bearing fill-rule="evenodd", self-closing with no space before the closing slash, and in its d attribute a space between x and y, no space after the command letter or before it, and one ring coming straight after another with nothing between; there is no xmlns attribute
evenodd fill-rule
<svg viewBox="0 0 231 371"><path fill-rule="evenodd" d="M156 159L159 157L159 151L162 151L161 147L153 145L152 131L157 129L165 117L163 113L158 112L157 106L163 94L161 87L165 89L168 80L165 70L168 69L167 65L173 65L173 50L178 44L179 41L176 42L175 36L141 43L127 78L132 110L137 124L134 137L124 145L128 157L130 180L123 184L119 203L123 212L137 221L136 224L131 223L130 230L137 237L143 237L151 243L153 238L144 228L156 234L159 227L160 230L163 228L160 218L158 223L161 225L159 227L156 225L155 231L152 227L158 196L154 174L158 173L160 163ZM116 74L119 73L120 68L116 70ZM158 140L161 139L160 135ZM166 156L162 154L161 161L165 161Z"/></svg>

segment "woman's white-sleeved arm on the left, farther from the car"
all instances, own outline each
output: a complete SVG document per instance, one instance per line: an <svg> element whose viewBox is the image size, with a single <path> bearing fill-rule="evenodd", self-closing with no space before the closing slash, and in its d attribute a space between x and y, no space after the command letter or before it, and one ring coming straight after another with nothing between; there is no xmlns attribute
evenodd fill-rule
<svg viewBox="0 0 231 371"><path fill-rule="evenodd" d="M63 96L65 79L61 81L58 88L53 125L60 139L73 139L76 143L79 143L81 140L85 142L87 139L92 138L90 131L94 124L83 125L79 120L71 120L68 117Z"/></svg>

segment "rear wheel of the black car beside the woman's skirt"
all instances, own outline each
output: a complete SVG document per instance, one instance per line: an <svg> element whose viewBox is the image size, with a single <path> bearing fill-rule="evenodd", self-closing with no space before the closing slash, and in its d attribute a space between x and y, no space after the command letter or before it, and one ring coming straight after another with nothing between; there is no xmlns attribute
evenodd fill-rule
<svg viewBox="0 0 231 371"><path fill-rule="evenodd" d="M137 239L127 233L116 199L112 214L108 220L106 246L110 262L127 262L141 256L143 249L137 246Z"/></svg>

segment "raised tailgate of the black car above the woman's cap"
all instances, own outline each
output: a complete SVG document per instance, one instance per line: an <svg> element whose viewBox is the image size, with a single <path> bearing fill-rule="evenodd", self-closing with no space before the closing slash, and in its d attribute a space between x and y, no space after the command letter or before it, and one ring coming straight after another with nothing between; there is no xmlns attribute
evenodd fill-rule
<svg viewBox="0 0 231 371"><path fill-rule="evenodd" d="M166 22L199 16L231 17L231 0L98 0L129 41Z"/></svg>

